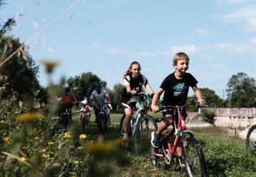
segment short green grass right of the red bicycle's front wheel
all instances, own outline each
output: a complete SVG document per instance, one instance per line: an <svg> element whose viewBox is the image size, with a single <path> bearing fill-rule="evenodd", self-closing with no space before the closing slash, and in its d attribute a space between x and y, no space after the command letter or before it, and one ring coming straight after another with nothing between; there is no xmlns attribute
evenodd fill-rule
<svg viewBox="0 0 256 177"><path fill-rule="evenodd" d="M241 139L197 135L209 176L255 176L255 156L247 154Z"/></svg>

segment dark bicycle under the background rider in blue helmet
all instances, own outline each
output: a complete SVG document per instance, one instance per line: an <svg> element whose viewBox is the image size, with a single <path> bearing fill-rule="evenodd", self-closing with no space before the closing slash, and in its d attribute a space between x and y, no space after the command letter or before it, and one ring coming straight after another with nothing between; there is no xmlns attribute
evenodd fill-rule
<svg viewBox="0 0 256 177"><path fill-rule="evenodd" d="M100 113L97 118L97 125L102 135L105 135L105 132L107 132L107 124L110 122L110 114L108 113L107 104L105 103L105 105L100 106L99 110Z"/></svg>

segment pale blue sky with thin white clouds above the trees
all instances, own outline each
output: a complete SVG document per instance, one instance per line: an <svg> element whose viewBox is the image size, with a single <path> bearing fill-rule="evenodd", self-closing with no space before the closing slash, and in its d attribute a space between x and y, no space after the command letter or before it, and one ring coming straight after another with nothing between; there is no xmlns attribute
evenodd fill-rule
<svg viewBox="0 0 256 177"><path fill-rule="evenodd" d="M8 0L0 16L16 16L11 35L28 42L37 64L40 59L60 61L55 83L92 72L112 89L122 83L129 64L138 61L156 91L174 72L172 58L181 51L191 59L188 72L198 87L220 98L232 74L256 78L253 0ZM43 67L39 80L47 85Z"/></svg>

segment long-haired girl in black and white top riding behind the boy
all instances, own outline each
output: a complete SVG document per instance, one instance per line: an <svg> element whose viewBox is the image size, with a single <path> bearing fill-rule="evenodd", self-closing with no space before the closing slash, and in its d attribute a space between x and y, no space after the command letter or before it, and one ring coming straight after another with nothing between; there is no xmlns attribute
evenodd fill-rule
<svg viewBox="0 0 256 177"><path fill-rule="evenodd" d="M149 86L149 81L141 74L141 65L139 62L132 62L129 69L124 74L124 90L122 91L122 108L124 109L124 139L128 138L129 122L132 118L132 107L137 108L137 101L131 100L132 96L142 92L142 86L146 88L149 94L153 95L154 91Z"/></svg>

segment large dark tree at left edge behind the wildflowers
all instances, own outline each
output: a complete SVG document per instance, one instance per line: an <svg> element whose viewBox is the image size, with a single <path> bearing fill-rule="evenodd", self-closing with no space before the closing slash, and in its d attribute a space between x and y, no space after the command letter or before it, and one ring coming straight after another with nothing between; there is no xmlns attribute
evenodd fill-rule
<svg viewBox="0 0 256 177"><path fill-rule="evenodd" d="M17 38L3 37L0 42L1 62L21 46L22 44ZM22 52L11 57L0 67L0 86L6 84L6 91L2 97L9 98L15 91L18 93L18 100L24 101L33 98L33 92L39 90L41 93L38 96L44 97L41 101L46 102L46 91L40 86L37 79L38 66L26 52L26 47L22 47L21 50Z"/></svg>

